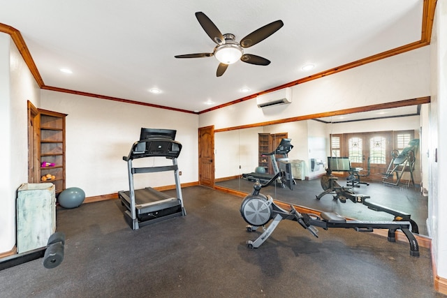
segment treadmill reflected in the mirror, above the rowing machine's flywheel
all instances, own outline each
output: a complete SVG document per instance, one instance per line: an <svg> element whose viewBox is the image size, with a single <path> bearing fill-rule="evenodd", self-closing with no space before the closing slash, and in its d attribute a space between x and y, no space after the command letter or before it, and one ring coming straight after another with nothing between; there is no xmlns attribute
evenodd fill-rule
<svg viewBox="0 0 447 298"><path fill-rule="evenodd" d="M274 151L269 153L263 153L261 156L270 156L270 161L272 161L272 167L273 167L273 174L263 174L263 173L256 173L251 172L248 174L242 174L242 178L247 179L249 181L260 181L261 183L267 183L272 179L276 174L279 173L279 167L278 167L278 161L288 161L288 152L290 152L293 148L293 144L291 144L292 139L283 138L281 139L281 142L279 142L279 145L277 149L274 149ZM281 158L276 158L276 155L281 155ZM293 177L291 177L291 181L293 181L293 184L295 184L295 180L293 180ZM277 182L284 187L283 182L280 178L277 179Z"/></svg>

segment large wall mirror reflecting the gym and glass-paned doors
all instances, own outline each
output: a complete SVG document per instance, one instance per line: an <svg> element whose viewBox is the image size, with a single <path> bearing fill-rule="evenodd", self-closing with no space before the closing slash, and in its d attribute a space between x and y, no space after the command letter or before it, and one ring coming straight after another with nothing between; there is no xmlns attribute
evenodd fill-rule
<svg viewBox="0 0 447 298"><path fill-rule="evenodd" d="M364 221L403 216L427 234L429 105L217 132L216 186L251 193L256 179L268 181L286 163L292 189L277 180L265 195ZM291 146L280 151L284 140Z"/></svg>

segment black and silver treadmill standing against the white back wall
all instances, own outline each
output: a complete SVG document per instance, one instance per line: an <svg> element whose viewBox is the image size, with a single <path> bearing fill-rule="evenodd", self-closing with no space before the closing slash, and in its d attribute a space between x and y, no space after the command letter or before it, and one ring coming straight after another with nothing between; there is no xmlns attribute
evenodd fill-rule
<svg viewBox="0 0 447 298"><path fill-rule="evenodd" d="M127 162L129 174L129 191L119 191L118 197L126 207L124 218L132 230L140 226L185 216L182 188L180 186L177 157L182 150L182 144L175 141L174 130L141 128L140 140L132 145L128 156L123 156ZM154 167L133 167L136 158L164 157L173 161L173 165ZM133 174L173 171L175 177L176 198L147 187L136 189L133 185Z"/></svg>

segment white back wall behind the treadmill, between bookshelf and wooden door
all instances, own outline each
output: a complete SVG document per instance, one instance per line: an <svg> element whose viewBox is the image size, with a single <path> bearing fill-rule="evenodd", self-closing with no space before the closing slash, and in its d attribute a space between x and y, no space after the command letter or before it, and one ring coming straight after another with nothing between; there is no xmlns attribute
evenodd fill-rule
<svg viewBox="0 0 447 298"><path fill-rule="evenodd" d="M198 115L113 100L42 90L41 107L66 117L66 187L80 187L87 197L129 189L127 156L140 128L177 130L182 183L198 181ZM166 158L142 158L135 166L172 165ZM173 172L134 176L135 188L175 184Z"/></svg>

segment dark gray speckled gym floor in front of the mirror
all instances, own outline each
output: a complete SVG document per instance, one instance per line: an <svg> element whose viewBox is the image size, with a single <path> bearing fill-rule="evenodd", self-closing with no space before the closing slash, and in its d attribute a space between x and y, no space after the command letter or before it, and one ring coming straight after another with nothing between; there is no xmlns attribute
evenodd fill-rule
<svg viewBox="0 0 447 298"><path fill-rule="evenodd" d="M175 192L172 192L175 194ZM184 188L187 215L131 230L119 200L57 209L65 258L0 271L0 297L444 297L430 251L354 230L281 221L260 248L240 216L242 198Z"/></svg>

